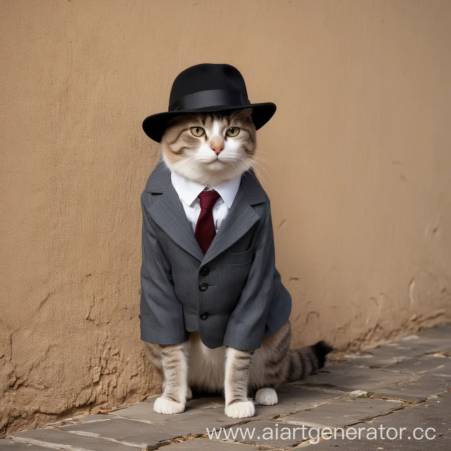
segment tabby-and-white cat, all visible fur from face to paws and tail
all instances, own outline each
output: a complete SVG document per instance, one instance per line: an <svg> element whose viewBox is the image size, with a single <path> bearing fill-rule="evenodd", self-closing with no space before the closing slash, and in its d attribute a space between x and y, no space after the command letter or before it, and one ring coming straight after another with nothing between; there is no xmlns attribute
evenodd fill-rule
<svg viewBox="0 0 451 451"><path fill-rule="evenodd" d="M162 137L161 151L172 172L214 188L256 164L252 109L175 117ZM315 373L332 350L324 341L291 350L290 339L287 321L256 350L210 349L199 332L189 332L188 341L177 345L145 343L147 355L163 379L155 412L183 412L193 391L224 392L225 414L231 418L255 414L249 392L254 393L256 404L277 404L277 387Z"/></svg>

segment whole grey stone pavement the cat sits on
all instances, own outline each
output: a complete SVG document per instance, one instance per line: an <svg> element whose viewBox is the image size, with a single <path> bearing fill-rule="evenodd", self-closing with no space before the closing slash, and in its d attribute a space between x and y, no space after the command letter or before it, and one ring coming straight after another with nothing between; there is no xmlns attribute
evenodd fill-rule
<svg viewBox="0 0 451 451"><path fill-rule="evenodd" d="M279 404L250 419L227 418L219 397L159 415L153 398L15 434L0 450L451 450L451 324L346 358L281 387Z"/></svg>

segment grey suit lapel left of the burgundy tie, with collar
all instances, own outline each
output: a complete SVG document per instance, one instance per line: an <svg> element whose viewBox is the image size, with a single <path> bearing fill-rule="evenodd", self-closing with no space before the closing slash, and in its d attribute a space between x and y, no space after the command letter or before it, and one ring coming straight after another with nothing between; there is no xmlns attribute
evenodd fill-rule
<svg viewBox="0 0 451 451"><path fill-rule="evenodd" d="M170 183L170 171L162 166L163 164L159 163L156 166L154 170L156 177L147 182L146 191L161 193L150 207L150 215L170 239L201 262L204 257L202 249L194 237L182 202Z"/></svg>

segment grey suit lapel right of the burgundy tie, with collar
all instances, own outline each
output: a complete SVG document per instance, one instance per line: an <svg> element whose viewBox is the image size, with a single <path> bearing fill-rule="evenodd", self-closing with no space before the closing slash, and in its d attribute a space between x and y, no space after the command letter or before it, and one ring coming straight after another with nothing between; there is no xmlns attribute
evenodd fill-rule
<svg viewBox="0 0 451 451"><path fill-rule="evenodd" d="M251 205L265 201L265 193L255 175L250 171L246 172L241 178L241 184L230 211L208 248L202 265L230 248L260 219Z"/></svg>

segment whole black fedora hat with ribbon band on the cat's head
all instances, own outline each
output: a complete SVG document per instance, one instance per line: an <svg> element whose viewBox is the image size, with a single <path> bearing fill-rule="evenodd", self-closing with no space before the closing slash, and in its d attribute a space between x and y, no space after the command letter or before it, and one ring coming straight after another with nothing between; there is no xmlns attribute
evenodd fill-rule
<svg viewBox="0 0 451 451"><path fill-rule="evenodd" d="M143 130L149 138L161 142L167 123L186 113L244 110L252 108L252 120L258 130L271 119L276 105L251 103L243 76L230 64L196 64L174 80L168 111L148 116Z"/></svg>

